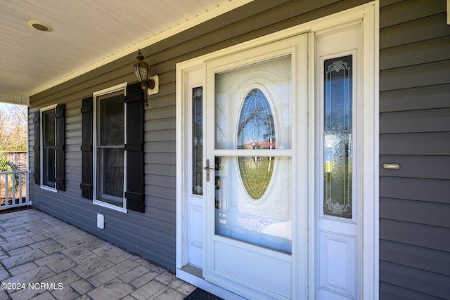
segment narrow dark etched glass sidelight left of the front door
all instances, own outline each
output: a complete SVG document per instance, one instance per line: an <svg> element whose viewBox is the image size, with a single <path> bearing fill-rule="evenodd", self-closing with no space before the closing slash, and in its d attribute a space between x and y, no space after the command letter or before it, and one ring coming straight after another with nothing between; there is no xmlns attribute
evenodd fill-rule
<svg viewBox="0 0 450 300"><path fill-rule="evenodd" d="M192 193L203 195L203 87L192 89Z"/></svg>

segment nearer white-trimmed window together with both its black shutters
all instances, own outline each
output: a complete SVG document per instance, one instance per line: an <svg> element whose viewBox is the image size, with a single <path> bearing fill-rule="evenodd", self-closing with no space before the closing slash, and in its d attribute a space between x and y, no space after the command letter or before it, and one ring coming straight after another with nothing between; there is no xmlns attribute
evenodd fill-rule
<svg viewBox="0 0 450 300"><path fill-rule="evenodd" d="M140 82L82 99L83 198L122 212L144 212L143 103Z"/></svg>

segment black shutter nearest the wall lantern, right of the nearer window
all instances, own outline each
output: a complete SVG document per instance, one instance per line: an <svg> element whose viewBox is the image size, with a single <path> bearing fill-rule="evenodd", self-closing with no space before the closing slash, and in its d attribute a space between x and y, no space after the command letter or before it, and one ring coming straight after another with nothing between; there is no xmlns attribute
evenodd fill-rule
<svg viewBox="0 0 450 300"><path fill-rule="evenodd" d="M143 90L141 84L127 86L127 209L143 212L144 169L143 169Z"/></svg>

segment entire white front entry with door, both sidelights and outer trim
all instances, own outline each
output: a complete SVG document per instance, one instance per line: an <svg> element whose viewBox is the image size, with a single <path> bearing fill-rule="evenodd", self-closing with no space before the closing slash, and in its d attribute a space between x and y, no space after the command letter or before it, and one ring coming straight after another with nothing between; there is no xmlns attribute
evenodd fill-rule
<svg viewBox="0 0 450 300"><path fill-rule="evenodd" d="M181 279L225 299L377 298L375 11L177 65Z"/></svg>

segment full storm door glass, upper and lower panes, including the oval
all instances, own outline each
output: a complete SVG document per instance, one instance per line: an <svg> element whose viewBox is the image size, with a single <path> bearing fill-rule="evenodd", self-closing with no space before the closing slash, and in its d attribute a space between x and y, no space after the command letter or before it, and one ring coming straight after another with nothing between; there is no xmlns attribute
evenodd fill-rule
<svg viewBox="0 0 450 300"><path fill-rule="evenodd" d="M215 233L291 253L290 56L215 76ZM224 151L225 150L225 151ZM257 155L270 150L274 156ZM236 155L236 152L239 152Z"/></svg>

